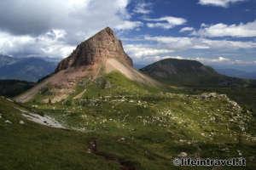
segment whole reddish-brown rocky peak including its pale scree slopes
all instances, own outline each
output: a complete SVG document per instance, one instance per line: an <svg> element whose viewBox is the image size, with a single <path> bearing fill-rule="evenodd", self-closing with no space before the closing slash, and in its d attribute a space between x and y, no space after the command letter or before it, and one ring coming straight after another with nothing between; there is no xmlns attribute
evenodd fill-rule
<svg viewBox="0 0 256 170"><path fill-rule="evenodd" d="M40 102L55 103L67 99L76 93L76 86L82 80L96 81L103 74L119 71L131 81L147 86L160 86L159 82L143 75L132 67L131 58L125 54L122 43L110 28L105 28L95 36L81 42L66 59L63 59L49 77L45 77L36 86L15 98L17 102L28 102L41 95ZM102 87L111 88L109 82L102 83ZM84 87L83 93L86 91ZM48 92L48 93L44 93ZM83 93L78 94L79 98ZM50 96L49 96L50 94Z"/></svg>

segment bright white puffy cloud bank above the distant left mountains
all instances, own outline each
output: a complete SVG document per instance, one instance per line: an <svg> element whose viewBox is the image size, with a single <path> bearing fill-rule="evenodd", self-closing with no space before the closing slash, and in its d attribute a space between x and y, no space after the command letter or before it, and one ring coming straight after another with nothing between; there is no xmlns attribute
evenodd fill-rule
<svg viewBox="0 0 256 170"><path fill-rule="evenodd" d="M13 36L0 32L0 54L22 57L23 55L48 56L55 58L67 57L75 46L64 42L66 31L52 30L38 37Z"/></svg>

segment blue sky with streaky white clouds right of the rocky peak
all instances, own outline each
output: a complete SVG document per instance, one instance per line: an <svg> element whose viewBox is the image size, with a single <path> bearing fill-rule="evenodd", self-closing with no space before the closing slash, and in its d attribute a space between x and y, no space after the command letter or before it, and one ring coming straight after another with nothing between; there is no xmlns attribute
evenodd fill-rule
<svg viewBox="0 0 256 170"><path fill-rule="evenodd" d="M163 52L151 59L174 57L197 59L208 65L230 65L233 67L255 65L256 1L247 0L233 3L232 1L230 3L223 1L226 2L222 3L223 5L219 5L218 1L216 4L207 3L207 1L206 4L201 4L198 0L140 2L144 4L141 5L144 8L143 14L138 13L132 16L134 20L142 21L143 26L139 31L132 31L129 35L125 35L126 37L130 36L131 39L125 43L132 43L136 46L144 44L144 47L173 50L172 53ZM137 3L131 3L128 7L129 11L134 11L136 6ZM170 26L170 28L168 26L165 28L164 25L148 27L150 20L147 19L160 19L166 16L177 17L185 21L176 26ZM167 21L160 21L160 23L167 23ZM227 32L224 33L225 31ZM146 41L145 36L148 37ZM136 39L135 37L142 37L143 41L135 42L133 41ZM148 41L153 44L148 45ZM141 59L143 60L143 58Z"/></svg>

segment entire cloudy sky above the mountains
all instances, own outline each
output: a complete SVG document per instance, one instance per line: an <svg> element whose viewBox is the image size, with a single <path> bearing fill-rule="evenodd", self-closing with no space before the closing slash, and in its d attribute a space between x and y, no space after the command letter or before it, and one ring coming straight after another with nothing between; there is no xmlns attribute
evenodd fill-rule
<svg viewBox="0 0 256 170"><path fill-rule="evenodd" d="M137 64L256 68L255 0L3 0L0 54L62 59L106 26Z"/></svg>

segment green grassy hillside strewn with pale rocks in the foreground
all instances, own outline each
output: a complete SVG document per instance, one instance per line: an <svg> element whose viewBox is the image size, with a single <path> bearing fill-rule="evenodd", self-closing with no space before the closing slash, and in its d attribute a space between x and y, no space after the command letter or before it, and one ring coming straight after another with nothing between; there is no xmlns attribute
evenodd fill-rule
<svg viewBox="0 0 256 170"><path fill-rule="evenodd" d="M44 95L50 99L50 93L37 99ZM256 166L252 112L225 95L173 94L112 72L82 80L59 103L37 99L24 106L0 100L0 169L179 169L172 160L182 152L244 156L247 169ZM67 129L30 122L23 110Z"/></svg>

